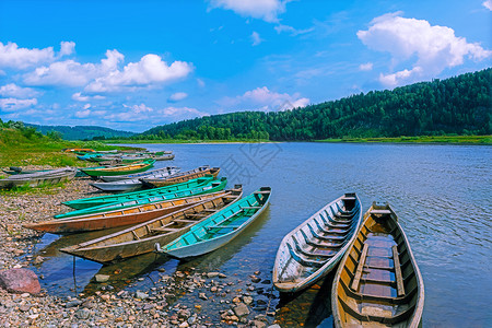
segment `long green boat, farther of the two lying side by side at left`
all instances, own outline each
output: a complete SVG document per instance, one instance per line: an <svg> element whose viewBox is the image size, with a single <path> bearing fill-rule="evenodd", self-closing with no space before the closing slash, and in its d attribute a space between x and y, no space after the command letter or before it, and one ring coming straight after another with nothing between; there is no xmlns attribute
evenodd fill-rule
<svg viewBox="0 0 492 328"><path fill-rule="evenodd" d="M128 200L134 200L139 198L148 198L148 197L154 197L160 196L163 194L168 192L177 192L183 191L187 189L195 189L199 187L203 187L204 185L211 184L213 180L213 176L204 176L201 178L196 178L192 180L189 180L187 183L166 186L162 188L155 188L155 189L148 189L148 190L140 190L140 191L133 191L133 192L125 192L125 194L118 194L118 195L109 195L109 196L99 196L99 197L89 197L89 198L81 198L81 199L74 199L63 202L63 204L75 209L86 209L92 207L97 207L102 204L109 204L113 202L121 202L121 201L128 201Z"/></svg>

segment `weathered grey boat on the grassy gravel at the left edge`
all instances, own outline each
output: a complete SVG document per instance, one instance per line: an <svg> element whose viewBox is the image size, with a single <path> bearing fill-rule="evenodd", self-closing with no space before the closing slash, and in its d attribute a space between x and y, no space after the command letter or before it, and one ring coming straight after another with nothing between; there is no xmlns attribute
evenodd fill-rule
<svg viewBox="0 0 492 328"><path fill-rule="evenodd" d="M0 179L0 189L10 189L21 186L37 187L42 185L54 185L73 179L75 173L75 168L66 167L30 174L12 175L4 179Z"/></svg>

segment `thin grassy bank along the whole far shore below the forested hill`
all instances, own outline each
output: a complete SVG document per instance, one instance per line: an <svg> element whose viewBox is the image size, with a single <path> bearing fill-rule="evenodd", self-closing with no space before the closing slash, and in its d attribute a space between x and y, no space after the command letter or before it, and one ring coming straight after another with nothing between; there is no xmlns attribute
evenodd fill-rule
<svg viewBox="0 0 492 328"><path fill-rule="evenodd" d="M166 143L166 144L226 144L226 143L281 143L282 141L271 140L105 140L110 144L143 144L143 143ZM291 141L309 142L309 141ZM333 138L314 140L311 142L331 143L422 143L422 144L492 144L492 136L420 136L420 137L394 137L394 138Z"/></svg>

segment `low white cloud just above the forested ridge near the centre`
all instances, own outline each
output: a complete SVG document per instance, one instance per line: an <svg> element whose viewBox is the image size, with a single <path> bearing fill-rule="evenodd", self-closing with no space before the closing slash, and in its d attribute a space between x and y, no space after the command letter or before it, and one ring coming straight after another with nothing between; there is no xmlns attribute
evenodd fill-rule
<svg viewBox="0 0 492 328"><path fill-rule="evenodd" d="M298 93L277 93L267 86L257 87L236 97L225 97L219 101L224 107L239 107L243 109L260 110L286 110L296 107L305 107L309 99L301 97Z"/></svg>

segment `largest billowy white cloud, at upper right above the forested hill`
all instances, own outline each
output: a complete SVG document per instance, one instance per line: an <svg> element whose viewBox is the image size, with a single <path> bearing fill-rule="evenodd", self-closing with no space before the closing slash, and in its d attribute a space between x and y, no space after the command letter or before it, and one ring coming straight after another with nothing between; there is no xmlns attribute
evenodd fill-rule
<svg viewBox="0 0 492 328"><path fill-rule="evenodd" d="M401 14L382 15L371 22L367 31L358 32L358 37L371 49L391 54L394 63L417 58L411 69L380 74L379 81L387 86L435 77L446 68L462 65L466 57L479 61L492 56L480 44L455 36L453 28L432 26L425 20L406 19Z"/></svg>

